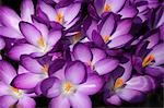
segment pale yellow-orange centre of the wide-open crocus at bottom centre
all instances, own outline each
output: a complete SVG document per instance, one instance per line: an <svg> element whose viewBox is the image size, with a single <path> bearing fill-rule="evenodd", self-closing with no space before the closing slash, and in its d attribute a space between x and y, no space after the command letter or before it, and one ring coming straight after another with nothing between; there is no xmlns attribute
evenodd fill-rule
<svg viewBox="0 0 164 108"><path fill-rule="evenodd" d="M63 94L72 94L75 92L75 87L71 82L66 82L62 86Z"/></svg>

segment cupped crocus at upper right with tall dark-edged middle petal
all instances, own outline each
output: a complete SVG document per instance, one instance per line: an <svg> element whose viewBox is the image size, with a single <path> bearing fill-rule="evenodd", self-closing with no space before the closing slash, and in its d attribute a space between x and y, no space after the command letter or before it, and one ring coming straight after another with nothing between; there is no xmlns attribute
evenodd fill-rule
<svg viewBox="0 0 164 108"><path fill-rule="evenodd" d="M116 19L118 17L109 13L101 21L97 31L94 29L92 32L92 40L96 45L101 47L107 45L108 48L118 48L131 40L132 36L129 34L129 31L132 21L130 19Z"/></svg>

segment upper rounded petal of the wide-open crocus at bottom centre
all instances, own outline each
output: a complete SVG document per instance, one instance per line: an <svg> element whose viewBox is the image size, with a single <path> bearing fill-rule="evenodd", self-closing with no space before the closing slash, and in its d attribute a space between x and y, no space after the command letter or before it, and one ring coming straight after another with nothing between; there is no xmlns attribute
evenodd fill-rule
<svg viewBox="0 0 164 108"><path fill-rule="evenodd" d="M66 79L74 84L82 83L85 75L85 65L80 61L74 61L71 65L66 68Z"/></svg>

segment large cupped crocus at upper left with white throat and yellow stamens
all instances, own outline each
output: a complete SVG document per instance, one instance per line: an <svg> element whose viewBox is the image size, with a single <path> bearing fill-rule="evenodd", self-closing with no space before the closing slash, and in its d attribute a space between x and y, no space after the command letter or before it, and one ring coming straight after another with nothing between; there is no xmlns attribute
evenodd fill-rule
<svg viewBox="0 0 164 108"><path fill-rule="evenodd" d="M27 22L20 22L20 29L27 43L13 46L9 51L10 58L20 60L21 55L42 57L50 51L61 38L61 29L48 27L35 22L35 25Z"/></svg>

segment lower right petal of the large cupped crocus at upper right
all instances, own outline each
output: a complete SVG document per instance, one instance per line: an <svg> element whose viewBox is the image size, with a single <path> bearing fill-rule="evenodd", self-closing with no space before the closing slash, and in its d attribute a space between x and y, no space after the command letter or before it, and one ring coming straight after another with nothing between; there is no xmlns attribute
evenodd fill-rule
<svg viewBox="0 0 164 108"><path fill-rule="evenodd" d="M127 44L129 40L131 40L132 36L127 34L127 35L121 35L118 36L116 38L114 38L107 46L109 48L114 48L114 47L121 47L125 44Z"/></svg>

